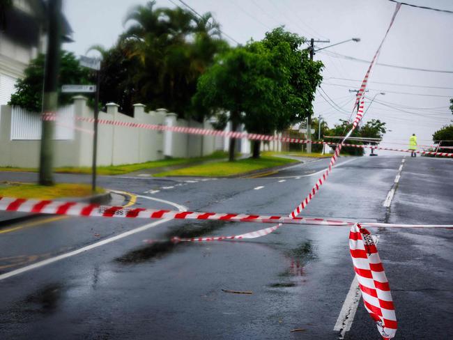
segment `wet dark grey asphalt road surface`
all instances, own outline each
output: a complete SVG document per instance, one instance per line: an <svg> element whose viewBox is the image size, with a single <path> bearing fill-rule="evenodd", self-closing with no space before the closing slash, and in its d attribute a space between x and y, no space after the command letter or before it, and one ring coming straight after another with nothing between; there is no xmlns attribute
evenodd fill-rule
<svg viewBox="0 0 453 340"><path fill-rule="evenodd" d="M401 160L342 157L305 215L452 224L452 160L406 157L390 208L383 206ZM105 176L100 185L144 196L136 207L286 215L326 164L310 162L266 178ZM0 173L0 180L35 178ZM56 179L90 181L73 175ZM124 234L144 225L146 230ZM105 241L0 280L0 339L338 339L333 329L354 276L347 228L284 226L245 242L168 242L174 235L261 228L68 217L0 233L0 275ZM395 339L453 339L451 230L371 232L380 237L397 309ZM118 240L109 242L114 236ZM290 332L295 328L304 330ZM380 339L361 301L345 339Z"/></svg>

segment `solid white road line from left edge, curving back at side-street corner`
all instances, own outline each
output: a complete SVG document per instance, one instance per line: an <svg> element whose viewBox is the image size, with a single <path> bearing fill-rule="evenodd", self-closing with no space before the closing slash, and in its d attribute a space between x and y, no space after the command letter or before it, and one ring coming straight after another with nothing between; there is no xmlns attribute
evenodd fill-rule
<svg viewBox="0 0 453 340"><path fill-rule="evenodd" d="M115 190L110 190L110 191L117 192ZM118 193L123 194L124 192L118 191ZM174 207L178 208L179 211L186 211L187 210L187 208L185 208L184 206L179 205L178 203L165 201L163 199L155 199L153 197L148 197L148 196L141 196L141 195L136 195L136 196L142 197L142 198L145 198L145 199L151 199L153 201L160 201L162 203L167 203L167 204L169 204L171 206L174 206ZM155 226L158 226L159 224L162 224L162 223L168 222L168 221L171 221L171 219L160 219L158 221L145 224L144 226L139 226L138 228L132 229L130 231L126 231L125 233L121 233L119 235L112 236L111 238L106 238L105 240L100 240L98 242L92 243L91 245L87 245L85 247L73 250L72 252L68 252L66 254L61 254L59 256L54 256L52 258L47 258L46 260L39 261L39 262L33 263L31 265L26 265L25 267L22 267L22 268L19 268L19 269L16 269L16 270L12 270L10 272L6 272L6 273L0 275L0 281L4 280L4 279L8 279L9 277L13 277L15 275L22 274L23 272L28 272L29 270L33 270L33 269L36 269L36 268L43 267L44 265L49 265L50 263L54 263L56 261L63 260L64 258L68 258L68 257L71 257L71 256L75 256L77 254L81 254L83 252L87 252L87 251L89 251L91 249L95 249L95 248L101 247L102 245L107 245L108 243L114 242L116 240L120 240L121 238L126 238L126 237L128 237L130 235L133 235L135 233L140 233L141 231L145 231L147 229L151 229L151 228L153 228Z"/></svg>

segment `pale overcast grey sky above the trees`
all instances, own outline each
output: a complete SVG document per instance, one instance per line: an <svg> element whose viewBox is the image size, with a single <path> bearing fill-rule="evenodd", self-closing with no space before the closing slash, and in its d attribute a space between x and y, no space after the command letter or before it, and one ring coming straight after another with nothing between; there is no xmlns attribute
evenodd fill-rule
<svg viewBox="0 0 453 340"><path fill-rule="evenodd" d="M183 4L173 0L181 7ZM64 45L76 54L85 54L91 45L110 47L124 30L128 9L146 0L64 0L63 10L74 31L75 42ZM306 38L330 39L331 43L353 37L360 42L318 52L323 61L323 91L318 91L314 113L321 114L329 125L347 119L353 109L353 93L367 70L367 63L335 57L332 53L371 60L390 22L395 4L387 0L184 0L197 12L212 12L222 31L240 43L250 38L260 40L266 31L279 25ZM406 0L420 6L453 10L451 0ZM174 7L169 0L158 6ZM453 71L453 14L402 6L383 45L378 63L411 68ZM231 45L235 45L230 41ZM318 44L318 47L330 44ZM352 79L352 80L344 80ZM381 84L391 83L391 84ZM398 85L394 85L398 84ZM426 87L424 87L426 86ZM429 86L443 87L433 88ZM448 109L453 98L453 73L421 72L376 65L369 82L369 98L403 109L398 111L374 102L364 121L379 118L392 130L383 146L404 147L415 133L419 144L429 144L431 135L453 119ZM412 94L407 94L412 93ZM337 111L321 94L345 111ZM329 97L329 98L328 98ZM369 102L369 100L368 100ZM365 108L367 104L365 105ZM348 113L346 113L348 112ZM401 145L400 145L401 144Z"/></svg>

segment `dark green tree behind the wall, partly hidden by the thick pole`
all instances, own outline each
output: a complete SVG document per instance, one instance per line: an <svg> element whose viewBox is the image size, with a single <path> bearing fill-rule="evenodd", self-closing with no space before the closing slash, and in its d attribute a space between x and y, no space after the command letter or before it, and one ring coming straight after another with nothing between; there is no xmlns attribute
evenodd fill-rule
<svg viewBox="0 0 453 340"><path fill-rule="evenodd" d="M16 91L11 95L9 105L17 105L33 112L40 112L43 106L45 56L40 54L33 59L24 71L25 77L18 79ZM75 55L62 51L59 72L59 84L90 84L89 70L82 68ZM75 93L61 93L59 88L59 105L71 102Z"/></svg>

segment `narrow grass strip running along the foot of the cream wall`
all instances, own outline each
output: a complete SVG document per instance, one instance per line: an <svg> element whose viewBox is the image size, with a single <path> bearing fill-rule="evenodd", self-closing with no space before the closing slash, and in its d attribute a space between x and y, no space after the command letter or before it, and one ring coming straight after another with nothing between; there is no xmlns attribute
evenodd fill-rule
<svg viewBox="0 0 453 340"><path fill-rule="evenodd" d="M98 167L96 173L98 175L122 175L123 173L130 173L132 171L139 171L143 169L155 169L171 167L174 165L192 164L203 162L205 160L218 160L227 157L227 153L223 151L216 151L212 155L204 157L192 158L170 158L168 160L155 160L152 162L136 163L136 164L122 164L110 165L108 167ZM15 167L0 167L0 171L29 171L37 172L36 168L15 168ZM59 167L54 169L55 173L91 173L91 167Z"/></svg>

